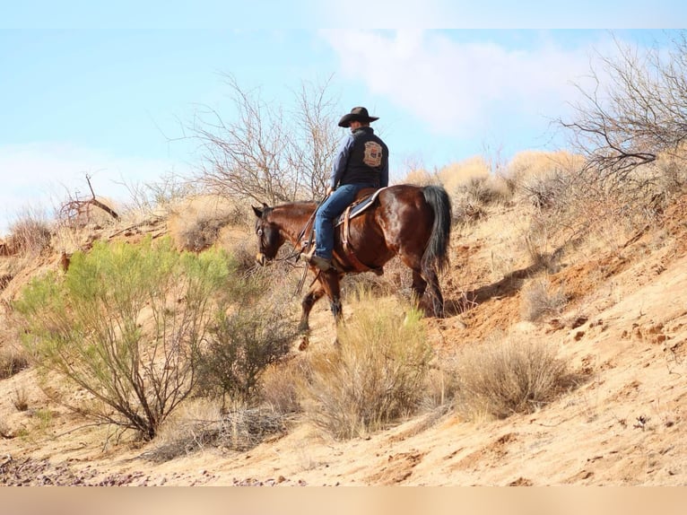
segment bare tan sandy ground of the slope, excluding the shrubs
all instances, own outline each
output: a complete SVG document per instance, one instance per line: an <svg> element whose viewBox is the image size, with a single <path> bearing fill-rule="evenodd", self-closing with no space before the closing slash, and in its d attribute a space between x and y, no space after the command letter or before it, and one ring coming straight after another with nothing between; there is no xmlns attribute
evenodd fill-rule
<svg viewBox="0 0 687 515"><path fill-rule="evenodd" d="M549 280L570 301L560 316L536 323L521 316L523 284L534 273L518 240L522 215L503 207L455 231L442 280L448 318L426 319L431 344L450 356L500 332L560 349L582 380L533 415L465 422L435 410L352 441L295 423L251 450L206 448L156 463L147 458L155 441L133 444L89 426L25 370L0 381L0 484L687 484L685 219L687 198L659 229L565 253ZM50 266L59 256L28 270ZM3 298L24 280L13 278ZM310 347L331 345L324 302L311 325ZM10 344L9 334L5 327L0 345ZM26 411L13 406L18 391Z"/></svg>

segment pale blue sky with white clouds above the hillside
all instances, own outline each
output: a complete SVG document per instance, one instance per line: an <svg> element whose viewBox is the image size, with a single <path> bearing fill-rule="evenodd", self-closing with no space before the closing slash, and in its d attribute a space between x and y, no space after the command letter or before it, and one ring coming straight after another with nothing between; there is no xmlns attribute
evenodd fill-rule
<svg viewBox="0 0 687 515"><path fill-rule="evenodd" d="M329 80L341 116L379 117L392 180L563 148L552 119L570 114L595 56L613 38L664 41L683 4L0 0L0 236L90 195L86 174L121 202L135 184L191 176L202 162L187 128L198 109L230 119L227 75L289 109L301 84Z"/></svg>

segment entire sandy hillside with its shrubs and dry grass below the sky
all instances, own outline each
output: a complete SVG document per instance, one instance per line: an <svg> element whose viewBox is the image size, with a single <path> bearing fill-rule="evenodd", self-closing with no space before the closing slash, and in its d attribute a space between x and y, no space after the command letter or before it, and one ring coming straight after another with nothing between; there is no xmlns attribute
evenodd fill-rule
<svg viewBox="0 0 687 515"><path fill-rule="evenodd" d="M248 207L26 221L39 242L0 258L0 481L684 484L683 178L659 161L651 195L604 194L577 188L576 163L413 173L453 200L448 316L422 317L392 262L347 279L341 348L325 302L309 345L294 333L302 269L252 264ZM157 268L170 278L145 283ZM203 311L193 276L212 278ZM132 423L146 414L163 416Z"/></svg>

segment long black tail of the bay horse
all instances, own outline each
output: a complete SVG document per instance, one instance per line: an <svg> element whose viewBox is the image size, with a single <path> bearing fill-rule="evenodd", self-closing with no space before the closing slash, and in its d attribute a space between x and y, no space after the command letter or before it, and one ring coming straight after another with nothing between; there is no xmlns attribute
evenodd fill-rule
<svg viewBox="0 0 687 515"><path fill-rule="evenodd" d="M422 268L436 266L441 272L448 266L448 242L451 238L451 199L441 186L422 188L424 199L434 211L430 240L422 255Z"/></svg>

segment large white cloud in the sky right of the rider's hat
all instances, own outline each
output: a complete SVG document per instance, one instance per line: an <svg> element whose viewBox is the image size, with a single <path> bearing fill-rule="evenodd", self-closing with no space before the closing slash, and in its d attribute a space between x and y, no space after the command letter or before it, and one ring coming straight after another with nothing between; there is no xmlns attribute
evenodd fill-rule
<svg viewBox="0 0 687 515"><path fill-rule="evenodd" d="M348 79L445 135L474 135L499 119L545 125L576 94L589 48L543 39L531 49L460 42L442 32L323 32Z"/></svg>

